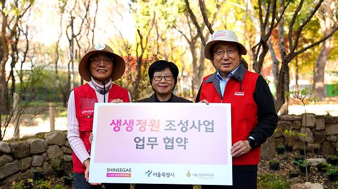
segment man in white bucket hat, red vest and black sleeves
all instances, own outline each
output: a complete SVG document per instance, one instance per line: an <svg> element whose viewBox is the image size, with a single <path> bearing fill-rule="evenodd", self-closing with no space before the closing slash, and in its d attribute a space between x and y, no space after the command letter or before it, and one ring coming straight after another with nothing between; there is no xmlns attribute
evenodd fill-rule
<svg viewBox="0 0 338 189"><path fill-rule="evenodd" d="M246 48L231 30L216 31L204 47L204 56L216 72L203 78L196 102L231 103L233 185L206 188L257 188L260 145L277 126L273 97L264 78L241 62Z"/></svg>

